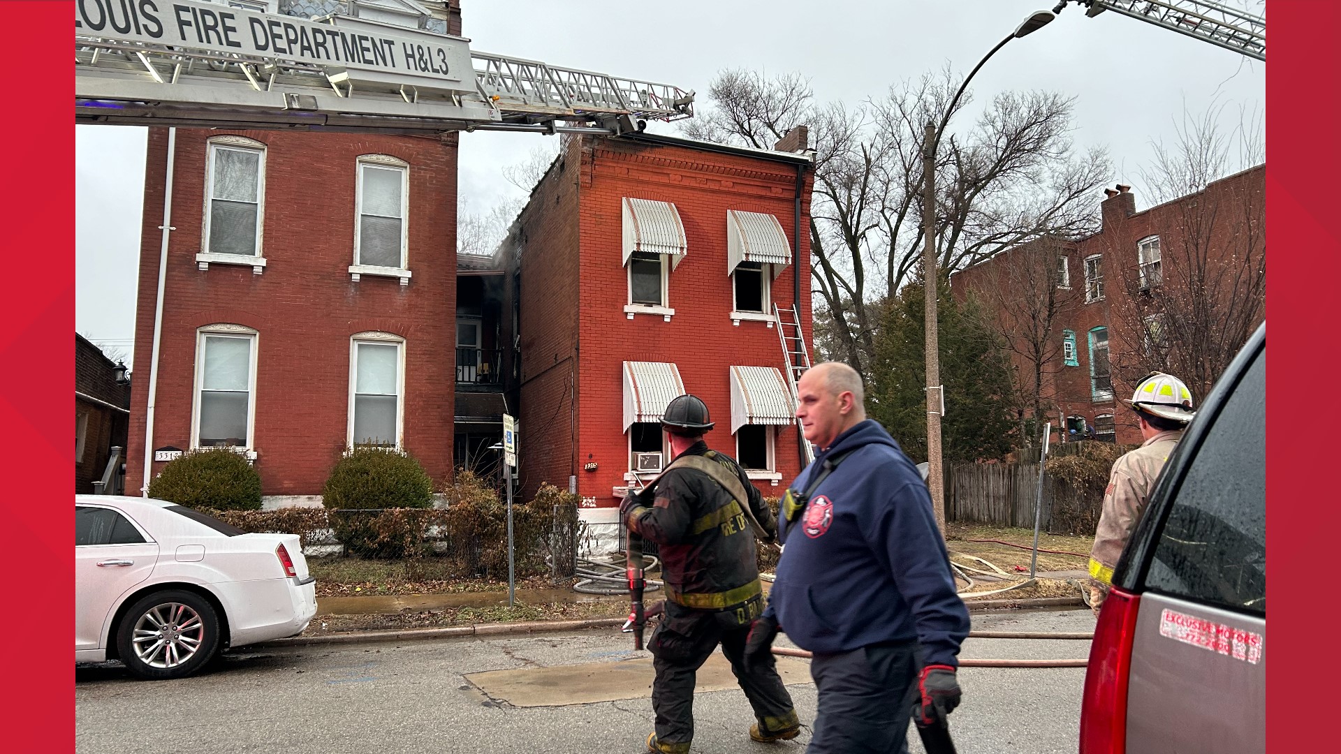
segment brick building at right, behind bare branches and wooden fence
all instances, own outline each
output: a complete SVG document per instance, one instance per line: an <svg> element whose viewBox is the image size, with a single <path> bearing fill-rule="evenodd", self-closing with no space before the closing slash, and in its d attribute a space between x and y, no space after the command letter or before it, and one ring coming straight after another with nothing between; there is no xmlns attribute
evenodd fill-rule
<svg viewBox="0 0 1341 754"><path fill-rule="evenodd" d="M1210 331L1250 334L1261 323L1265 307L1255 305L1265 302L1265 178L1266 166L1259 165L1141 212L1130 186L1120 184L1106 189L1094 235L1038 239L952 275L953 295L972 292L1007 338L1018 393L1038 396L1053 425L1065 427L1059 440L1090 435L1140 443L1121 398L1160 364L1152 349L1168 347L1169 327L1204 317ZM1204 315L1191 311L1196 305L1185 299L1196 287L1187 284L1193 267L1210 280L1198 288L1207 298L1254 302L1206 307ZM1216 319L1235 315L1250 321ZM1224 349L1232 353L1240 345ZM1204 388L1195 398L1206 398Z"/></svg>

